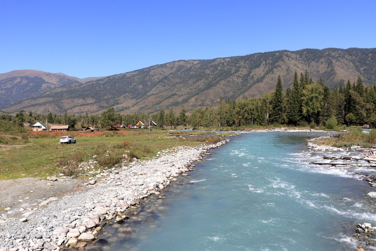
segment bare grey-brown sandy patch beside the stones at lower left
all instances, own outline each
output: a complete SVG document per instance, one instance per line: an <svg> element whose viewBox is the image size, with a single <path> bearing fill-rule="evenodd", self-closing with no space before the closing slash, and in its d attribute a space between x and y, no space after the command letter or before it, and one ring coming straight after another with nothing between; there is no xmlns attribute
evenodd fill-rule
<svg viewBox="0 0 376 251"><path fill-rule="evenodd" d="M39 204L50 197L59 197L67 193L78 192L84 187L79 185L79 180L47 181L41 178L20 178L0 181L0 213L5 213L4 208L10 207L17 210L24 203ZM14 210L16 211L16 210ZM16 211L14 214L24 212Z"/></svg>

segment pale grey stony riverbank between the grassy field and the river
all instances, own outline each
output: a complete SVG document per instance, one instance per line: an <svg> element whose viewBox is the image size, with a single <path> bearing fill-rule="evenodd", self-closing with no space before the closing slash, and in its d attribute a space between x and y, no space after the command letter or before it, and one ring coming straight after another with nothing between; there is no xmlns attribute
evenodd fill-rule
<svg viewBox="0 0 376 251"><path fill-rule="evenodd" d="M86 242L97 238L106 222L126 221L122 214L135 209L138 200L158 195L176 176L192 170L192 163L209 149L224 143L226 140L161 151L152 160L99 172L99 180L91 179L83 192L9 208L0 217L0 251L82 250ZM22 215L12 218L15 210Z"/></svg>

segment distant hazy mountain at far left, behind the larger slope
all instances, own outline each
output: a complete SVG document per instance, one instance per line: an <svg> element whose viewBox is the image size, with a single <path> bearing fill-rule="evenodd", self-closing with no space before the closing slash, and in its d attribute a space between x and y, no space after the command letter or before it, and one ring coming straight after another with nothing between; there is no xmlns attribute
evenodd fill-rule
<svg viewBox="0 0 376 251"><path fill-rule="evenodd" d="M103 77L79 79L63 73L15 70L0 74L0 108L21 99L37 97L53 88L74 82L85 83Z"/></svg>

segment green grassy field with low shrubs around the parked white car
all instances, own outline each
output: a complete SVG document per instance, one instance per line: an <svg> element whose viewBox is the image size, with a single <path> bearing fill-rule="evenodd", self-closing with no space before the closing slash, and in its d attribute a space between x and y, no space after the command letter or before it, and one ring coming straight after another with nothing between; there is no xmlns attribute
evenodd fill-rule
<svg viewBox="0 0 376 251"><path fill-rule="evenodd" d="M202 133L169 132L174 136ZM59 144L59 136L31 136L24 148L0 151L0 180L29 176L47 177L59 173L70 175L79 163L88 162L93 159L93 155L98 156L95 160L100 165L111 168L114 164L120 164L124 154L129 158L148 159L162 149L183 145L196 146L218 141L218 138L183 139L171 137L165 130L135 130L124 135L115 133L100 137L76 137L76 140L76 144L66 145Z"/></svg>

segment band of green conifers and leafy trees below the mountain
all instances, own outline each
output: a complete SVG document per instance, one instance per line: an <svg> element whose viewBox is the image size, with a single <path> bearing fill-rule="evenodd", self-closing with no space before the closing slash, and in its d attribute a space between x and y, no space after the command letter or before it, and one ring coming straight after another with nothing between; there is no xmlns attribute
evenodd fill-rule
<svg viewBox="0 0 376 251"><path fill-rule="evenodd" d="M220 99L217 108L198 108L190 115L184 108L175 115L170 109L165 112L159 110L156 114L134 113L121 115L115 113L110 107L98 115L63 115L49 113L47 115L19 111L15 116L1 114L0 119L5 119L23 125L24 122L32 123L45 121L49 123L65 124L74 127L81 122L81 127L86 126L113 126L134 125L141 121L149 126L154 121L158 126L177 125L201 127L240 127L240 126L266 126L266 125L293 125L307 126L335 124L376 126L376 86L365 86L360 76L358 79L347 81L345 86L330 88L324 84L322 78L314 82L308 71L298 73L295 71L291 88L284 92L282 80L278 76L276 88L271 93L264 93L261 97L251 97L231 101Z"/></svg>

